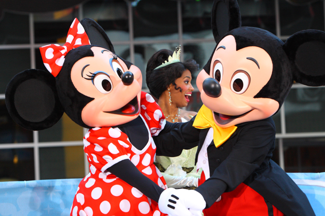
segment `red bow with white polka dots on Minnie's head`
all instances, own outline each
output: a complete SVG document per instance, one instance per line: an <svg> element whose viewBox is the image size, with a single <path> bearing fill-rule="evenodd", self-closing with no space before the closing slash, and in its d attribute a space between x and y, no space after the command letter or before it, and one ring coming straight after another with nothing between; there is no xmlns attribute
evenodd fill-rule
<svg viewBox="0 0 325 216"><path fill-rule="evenodd" d="M89 38L83 26L78 19L75 18L67 32L66 42L63 46L49 44L40 47L39 50L46 69L56 77L62 68L66 53L78 46L89 44Z"/></svg>

